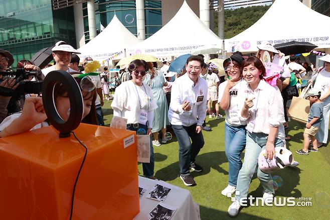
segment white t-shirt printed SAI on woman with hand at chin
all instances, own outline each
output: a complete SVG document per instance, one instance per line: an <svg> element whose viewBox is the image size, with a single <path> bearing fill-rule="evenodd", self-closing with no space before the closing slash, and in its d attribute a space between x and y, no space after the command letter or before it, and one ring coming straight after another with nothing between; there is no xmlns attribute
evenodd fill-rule
<svg viewBox="0 0 330 220"><path fill-rule="evenodd" d="M221 98L224 94L225 88L227 86L228 80L221 83L219 85L219 97L218 102L221 101ZM229 90L229 96L230 96L230 103L229 108L225 111L226 113L226 123L230 126L240 126L240 125L246 125L246 121L237 121L237 119L233 120L231 116L233 116L234 112L238 113L239 111L242 111L242 107L244 105L244 96L242 95L244 92L244 89L246 88L247 83L242 78L240 81L238 81L234 87L232 87Z"/></svg>

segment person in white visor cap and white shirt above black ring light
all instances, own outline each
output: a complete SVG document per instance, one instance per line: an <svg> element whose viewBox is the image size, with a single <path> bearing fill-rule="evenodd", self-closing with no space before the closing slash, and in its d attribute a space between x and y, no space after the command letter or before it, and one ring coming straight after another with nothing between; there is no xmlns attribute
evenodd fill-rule
<svg viewBox="0 0 330 220"><path fill-rule="evenodd" d="M69 67L71 62L72 53L80 54L79 51L74 49L71 45L67 44L64 41L59 41L52 48L52 55L56 62L55 65L42 69L43 74L46 76L49 72L53 70L64 70L69 73L76 72L75 70Z"/></svg>

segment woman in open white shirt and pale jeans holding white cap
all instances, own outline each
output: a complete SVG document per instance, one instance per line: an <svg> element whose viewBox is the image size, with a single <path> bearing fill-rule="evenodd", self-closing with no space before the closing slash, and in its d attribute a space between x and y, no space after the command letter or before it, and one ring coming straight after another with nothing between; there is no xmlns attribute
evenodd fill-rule
<svg viewBox="0 0 330 220"><path fill-rule="evenodd" d="M243 77L248 85L242 92L245 98L239 118L247 122L244 163L238 174L236 200L229 206L230 216L238 214L242 205L247 205L247 195L252 176L258 166L258 156L265 149L265 157L272 159L275 147L284 146L283 99L277 87L272 87L262 79L265 67L257 57L248 57L242 63ZM273 201L272 177L258 168L258 179L264 189L263 200Z"/></svg>

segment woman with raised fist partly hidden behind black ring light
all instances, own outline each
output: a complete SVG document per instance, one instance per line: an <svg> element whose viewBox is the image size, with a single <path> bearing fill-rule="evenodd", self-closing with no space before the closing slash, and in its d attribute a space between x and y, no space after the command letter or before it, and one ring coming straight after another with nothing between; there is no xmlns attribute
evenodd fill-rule
<svg viewBox="0 0 330 220"><path fill-rule="evenodd" d="M83 97L83 119L82 123L96 125L95 112L95 87L89 87L88 90L83 90L81 87L81 78L86 74L73 75L80 84L80 89ZM79 77L80 76L80 77ZM86 83L86 81L84 81ZM88 84L93 84L91 81ZM54 87L54 101L56 109L60 117L67 121L70 113L70 99L68 92L62 84L57 83ZM44 105L41 97L27 97L25 100L22 113L14 114L7 117L0 125L0 138L20 134L30 130L48 126L47 116L44 111Z"/></svg>

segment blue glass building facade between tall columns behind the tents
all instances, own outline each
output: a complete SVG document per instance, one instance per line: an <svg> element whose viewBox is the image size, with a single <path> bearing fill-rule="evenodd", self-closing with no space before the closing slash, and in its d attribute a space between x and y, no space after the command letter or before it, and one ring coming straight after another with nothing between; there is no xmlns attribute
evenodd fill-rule
<svg viewBox="0 0 330 220"><path fill-rule="evenodd" d="M137 36L135 1L95 0L95 5L98 5L98 8L95 9L97 34L100 33L100 24L106 27L112 20L114 14L116 14L121 23L133 35ZM144 1L144 13L145 37L148 38L162 27L161 1ZM83 3L83 19L85 42L87 43L89 41L87 3Z"/></svg>

